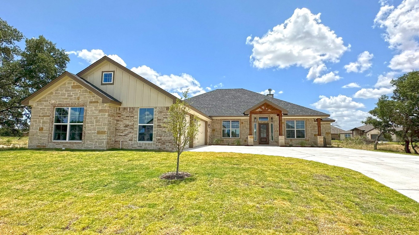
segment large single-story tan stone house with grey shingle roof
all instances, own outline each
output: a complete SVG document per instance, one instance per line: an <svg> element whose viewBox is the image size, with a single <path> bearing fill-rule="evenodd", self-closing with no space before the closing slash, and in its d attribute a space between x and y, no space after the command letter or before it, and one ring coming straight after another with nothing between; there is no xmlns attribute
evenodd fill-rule
<svg viewBox="0 0 419 235"><path fill-rule="evenodd" d="M162 149L173 139L162 126L171 93L104 56L77 74L65 72L22 101L31 106L29 148ZM329 114L245 89L191 98L201 124L189 147L211 144L331 144Z"/></svg>

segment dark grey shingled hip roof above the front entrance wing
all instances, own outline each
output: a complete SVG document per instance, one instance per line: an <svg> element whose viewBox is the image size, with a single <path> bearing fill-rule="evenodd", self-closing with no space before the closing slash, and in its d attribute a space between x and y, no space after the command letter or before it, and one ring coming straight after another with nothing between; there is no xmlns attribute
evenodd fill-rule
<svg viewBox="0 0 419 235"><path fill-rule="evenodd" d="M330 116L321 111L292 104L243 88L216 89L191 97L187 102L208 116L244 116L246 110L265 99L287 110L288 116Z"/></svg>

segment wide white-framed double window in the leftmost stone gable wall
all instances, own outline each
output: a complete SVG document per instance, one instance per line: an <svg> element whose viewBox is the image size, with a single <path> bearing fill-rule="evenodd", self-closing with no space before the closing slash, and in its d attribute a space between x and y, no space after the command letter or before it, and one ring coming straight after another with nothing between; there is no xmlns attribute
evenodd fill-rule
<svg viewBox="0 0 419 235"><path fill-rule="evenodd" d="M54 112L54 141L82 141L83 107L56 107Z"/></svg>

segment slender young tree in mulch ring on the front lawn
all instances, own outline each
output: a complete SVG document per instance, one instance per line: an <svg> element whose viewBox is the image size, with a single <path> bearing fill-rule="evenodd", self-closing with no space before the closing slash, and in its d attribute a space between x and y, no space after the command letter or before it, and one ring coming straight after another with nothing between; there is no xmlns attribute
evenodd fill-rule
<svg viewBox="0 0 419 235"><path fill-rule="evenodd" d="M184 151L186 145L197 139L197 134L199 132L199 119L197 116L191 116L189 121L186 116L188 115L188 104L186 99L188 98L188 90L183 92L184 99L177 99L175 104L172 104L169 107L169 117L166 119L163 126L169 131L173 136L173 143L178 154L177 163L176 163L176 179L179 175L179 159L181 153Z"/></svg>

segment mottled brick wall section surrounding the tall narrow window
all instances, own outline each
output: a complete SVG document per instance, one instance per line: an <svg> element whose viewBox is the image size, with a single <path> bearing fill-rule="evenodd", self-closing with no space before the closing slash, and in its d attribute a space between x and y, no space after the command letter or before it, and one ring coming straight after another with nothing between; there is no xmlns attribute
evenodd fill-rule
<svg viewBox="0 0 419 235"><path fill-rule="evenodd" d="M138 142L138 111L140 107L116 108L114 148L160 149L175 151L173 137L162 126L168 118L169 107L154 107L153 142ZM122 142L120 142L122 141Z"/></svg>

